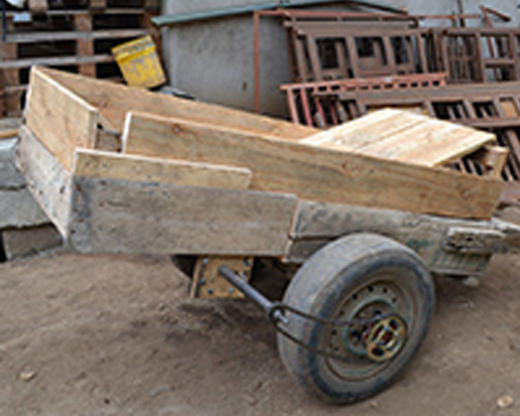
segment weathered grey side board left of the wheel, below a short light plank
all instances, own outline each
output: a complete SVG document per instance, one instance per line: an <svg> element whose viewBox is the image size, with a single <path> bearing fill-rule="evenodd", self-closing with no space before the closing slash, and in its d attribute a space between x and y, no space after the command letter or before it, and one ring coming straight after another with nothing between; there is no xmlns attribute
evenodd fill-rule
<svg viewBox="0 0 520 416"><path fill-rule="evenodd" d="M80 252L281 256L291 195L74 177L70 243Z"/></svg>

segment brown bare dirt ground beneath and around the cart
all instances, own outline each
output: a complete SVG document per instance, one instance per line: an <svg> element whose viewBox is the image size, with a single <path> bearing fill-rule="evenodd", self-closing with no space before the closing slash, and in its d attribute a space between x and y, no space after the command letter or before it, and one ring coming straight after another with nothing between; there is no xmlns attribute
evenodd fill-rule
<svg viewBox="0 0 520 416"><path fill-rule="evenodd" d="M437 279L419 355L347 406L306 394L247 301L189 300L167 257L50 254L0 265L0 414L520 414L520 256L479 288ZM510 395L514 404L499 408Z"/></svg>

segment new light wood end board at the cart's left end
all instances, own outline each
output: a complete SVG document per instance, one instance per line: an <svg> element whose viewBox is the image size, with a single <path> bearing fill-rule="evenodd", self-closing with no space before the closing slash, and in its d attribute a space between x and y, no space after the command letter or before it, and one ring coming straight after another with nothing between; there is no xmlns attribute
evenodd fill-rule
<svg viewBox="0 0 520 416"><path fill-rule="evenodd" d="M37 69L31 70L26 124L69 171L77 147L94 148L96 108Z"/></svg>

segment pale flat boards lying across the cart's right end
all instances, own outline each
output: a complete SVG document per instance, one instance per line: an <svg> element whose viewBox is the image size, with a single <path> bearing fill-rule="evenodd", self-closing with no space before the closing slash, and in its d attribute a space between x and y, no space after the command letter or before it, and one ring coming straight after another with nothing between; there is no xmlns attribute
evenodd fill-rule
<svg viewBox="0 0 520 416"><path fill-rule="evenodd" d="M386 109L301 142L424 166L442 166L494 141L492 133Z"/></svg>

